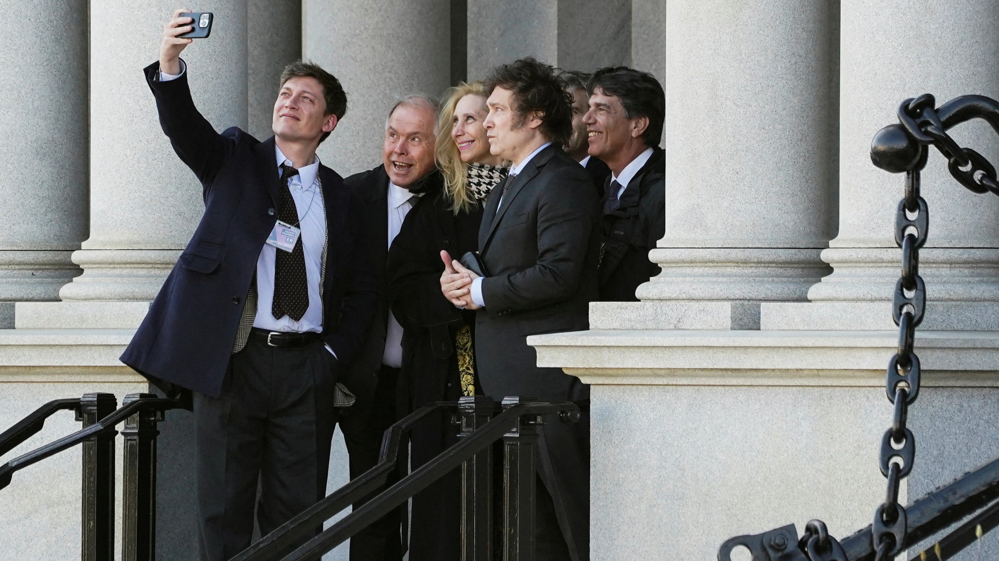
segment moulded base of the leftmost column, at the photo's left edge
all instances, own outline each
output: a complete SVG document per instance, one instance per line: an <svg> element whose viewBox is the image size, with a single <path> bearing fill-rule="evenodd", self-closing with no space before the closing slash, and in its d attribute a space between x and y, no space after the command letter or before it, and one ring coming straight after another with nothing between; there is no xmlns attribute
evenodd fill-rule
<svg viewBox="0 0 999 561"><path fill-rule="evenodd" d="M0 251L0 300L59 299L59 288L81 273L70 260L72 254L66 251ZM0 325L2 321L0 317Z"/></svg>

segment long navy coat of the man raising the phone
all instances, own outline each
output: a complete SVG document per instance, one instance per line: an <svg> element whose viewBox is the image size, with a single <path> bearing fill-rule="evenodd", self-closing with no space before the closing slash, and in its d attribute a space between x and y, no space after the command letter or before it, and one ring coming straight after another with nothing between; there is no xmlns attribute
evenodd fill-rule
<svg viewBox="0 0 999 561"><path fill-rule="evenodd" d="M259 142L233 127L221 135L198 112L187 73L158 80L145 69L163 132L203 187L205 214L121 360L154 378L218 395L261 249L281 208L274 137ZM349 362L371 322L378 286L370 270L365 207L343 179L320 166L329 236L323 340ZM163 382L168 383L163 383Z"/></svg>

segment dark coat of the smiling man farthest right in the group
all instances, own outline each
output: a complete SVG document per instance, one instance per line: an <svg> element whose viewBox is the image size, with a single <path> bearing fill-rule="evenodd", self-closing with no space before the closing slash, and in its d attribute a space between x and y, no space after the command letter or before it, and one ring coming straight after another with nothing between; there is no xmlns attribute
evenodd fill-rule
<svg viewBox="0 0 999 561"><path fill-rule="evenodd" d="M604 190L605 205L610 195L609 178ZM620 206L603 211L601 300L637 301L634 290L638 284L659 274L659 266L648 260L648 252L665 235L665 192L665 157L661 148L655 148L621 194Z"/></svg>

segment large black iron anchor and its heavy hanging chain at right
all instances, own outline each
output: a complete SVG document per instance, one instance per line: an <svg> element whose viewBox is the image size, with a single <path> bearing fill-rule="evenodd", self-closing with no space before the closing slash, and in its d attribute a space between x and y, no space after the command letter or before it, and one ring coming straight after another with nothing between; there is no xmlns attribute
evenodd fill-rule
<svg viewBox="0 0 999 561"><path fill-rule="evenodd" d="M812 520L800 539L793 524L730 538L721 545L718 561L731 561L737 547L748 549L752 561L883 561L894 559L904 549L973 515L934 543L930 556L920 552L912 558L944 561L999 526L999 458L911 506L897 503L899 481L912 469L915 458L914 436L905 423L907 404L915 400L919 390L913 331L925 307L918 249L926 241L928 208L919 195L919 173L933 146L947 158L951 176L966 189L999 195L999 180L992 164L974 150L962 148L946 132L960 123L982 119L999 133L999 102L984 96L961 96L936 107L933 96L926 94L902 102L897 114L899 123L878 131L871 143L875 166L906 174L905 198L896 212L895 241L902 249L902 278L896 284L893 316L900 334L898 353L886 372L886 390L895 413L892 428L882 439L879 460L881 472L888 478L886 500L876 510L872 525L842 541L830 536L821 521ZM906 356L910 358L903 362L901 358Z"/></svg>

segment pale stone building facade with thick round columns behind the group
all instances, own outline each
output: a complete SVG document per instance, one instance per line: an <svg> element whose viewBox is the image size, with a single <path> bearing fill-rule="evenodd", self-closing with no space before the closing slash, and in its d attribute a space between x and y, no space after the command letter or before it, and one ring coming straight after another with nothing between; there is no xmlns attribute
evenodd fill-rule
<svg viewBox="0 0 999 561"><path fill-rule="evenodd" d="M140 72L174 6L23 4L0 0L0 427L48 399L146 389L117 356L202 210ZM343 175L379 162L395 96L519 56L658 77L662 273L639 302L591 304L589 331L531 342L539 363L593 384L592 559L712 559L729 536L811 518L846 535L881 500L903 182L870 164L870 140L905 98L999 98L999 4L918 5L213 0L196 6L216 14L212 37L185 58L209 120L261 138L285 63L331 70L350 109L320 157ZM986 125L952 134L999 162ZM910 499L999 454L999 201L960 188L937 154L923 186ZM190 485L188 421L163 424L161 559L188 558L191 543L176 490ZM57 418L18 449L76 426ZM77 555L78 512L74 453L17 474L0 490L0 559Z"/></svg>

